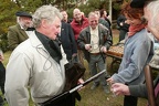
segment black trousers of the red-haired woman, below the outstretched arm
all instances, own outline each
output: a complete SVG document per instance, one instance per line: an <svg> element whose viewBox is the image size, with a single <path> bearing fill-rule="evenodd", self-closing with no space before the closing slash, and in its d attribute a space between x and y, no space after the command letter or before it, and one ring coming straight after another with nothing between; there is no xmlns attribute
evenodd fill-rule
<svg viewBox="0 0 159 106"><path fill-rule="evenodd" d="M137 106L138 97L135 96L125 96L124 106Z"/></svg>

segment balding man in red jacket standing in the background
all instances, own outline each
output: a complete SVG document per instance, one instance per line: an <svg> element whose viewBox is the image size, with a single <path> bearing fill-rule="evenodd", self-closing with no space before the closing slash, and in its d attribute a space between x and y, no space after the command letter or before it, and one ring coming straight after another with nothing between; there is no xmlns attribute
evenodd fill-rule
<svg viewBox="0 0 159 106"><path fill-rule="evenodd" d="M72 26L73 32L74 32L75 41L77 41L80 32L83 29L85 29L86 26L88 26L88 19L85 18L84 15L82 15L82 12L80 9L73 10L73 18L74 19L71 22L71 26ZM80 47L77 47L77 56L78 56L80 62L84 65L83 52L82 52L82 50L80 50Z"/></svg>

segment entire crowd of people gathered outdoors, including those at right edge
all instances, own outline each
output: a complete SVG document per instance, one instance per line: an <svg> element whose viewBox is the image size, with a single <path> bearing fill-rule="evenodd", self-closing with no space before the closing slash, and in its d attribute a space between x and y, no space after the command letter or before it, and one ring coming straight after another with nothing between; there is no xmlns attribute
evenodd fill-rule
<svg viewBox="0 0 159 106"><path fill-rule="evenodd" d="M117 73L107 80L106 53L113 45L113 33L105 9L91 11L86 17L76 8L73 19L53 6L42 6L32 15L18 11L17 24L8 30L12 53L7 67L0 55L3 73L0 87L4 99L9 106L29 106L31 96L33 103L41 106L64 92L65 64L75 59L83 66L85 61L88 63L92 76L106 71L94 80L92 91L102 85L105 94L125 95L124 106L137 106L138 97L148 98L144 70L153 55L153 41L148 33L159 40L158 3L158 0L124 3L117 19L119 42L125 40L124 56ZM76 83L84 83L82 78ZM158 78L155 83L157 85ZM76 98L77 95L70 95L45 106L75 106Z"/></svg>

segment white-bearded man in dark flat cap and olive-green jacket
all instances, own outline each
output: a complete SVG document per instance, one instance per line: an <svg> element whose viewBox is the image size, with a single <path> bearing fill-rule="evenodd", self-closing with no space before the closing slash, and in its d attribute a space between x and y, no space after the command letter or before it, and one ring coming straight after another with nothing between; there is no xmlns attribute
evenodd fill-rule
<svg viewBox="0 0 159 106"><path fill-rule="evenodd" d="M32 15L25 11L18 11L17 24L9 26L8 43L9 49L14 50L21 42L29 38L29 33L34 30L32 24Z"/></svg>

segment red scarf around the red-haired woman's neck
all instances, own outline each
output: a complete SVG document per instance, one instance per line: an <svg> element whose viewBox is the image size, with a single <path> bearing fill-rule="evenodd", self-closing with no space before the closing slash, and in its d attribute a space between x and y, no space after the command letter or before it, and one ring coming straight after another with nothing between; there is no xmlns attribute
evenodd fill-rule
<svg viewBox="0 0 159 106"><path fill-rule="evenodd" d="M145 29L147 24L138 24L138 25L130 25L128 38L132 36L135 33L139 32L140 30Z"/></svg>

